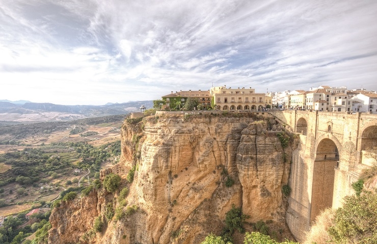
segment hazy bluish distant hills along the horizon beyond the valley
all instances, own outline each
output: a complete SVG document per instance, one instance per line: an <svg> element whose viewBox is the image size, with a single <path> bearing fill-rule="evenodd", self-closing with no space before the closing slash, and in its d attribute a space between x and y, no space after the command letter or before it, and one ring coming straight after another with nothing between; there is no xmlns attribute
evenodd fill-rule
<svg viewBox="0 0 377 244"><path fill-rule="evenodd" d="M95 118L138 112L142 105L150 109L153 107L153 101L107 103L106 105L61 105L37 102L15 104L0 101L0 121L20 123L71 121L79 118Z"/></svg>

